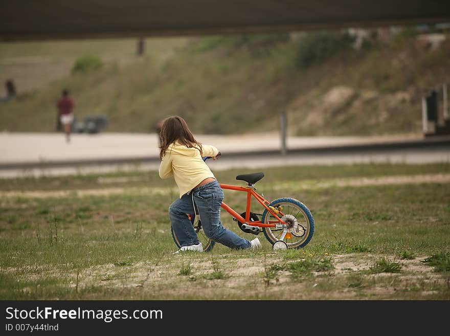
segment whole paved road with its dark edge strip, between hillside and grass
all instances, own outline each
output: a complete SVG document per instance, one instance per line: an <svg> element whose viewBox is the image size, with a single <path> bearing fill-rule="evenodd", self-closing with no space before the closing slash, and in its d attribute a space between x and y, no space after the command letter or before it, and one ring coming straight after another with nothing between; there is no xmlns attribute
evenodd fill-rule
<svg viewBox="0 0 450 336"><path fill-rule="evenodd" d="M246 136L199 135L222 152L211 168L256 169L268 166L336 163L450 162L450 137L289 137L282 155L277 133ZM75 134L66 143L60 133L0 134L0 177L108 172L159 167L153 134Z"/></svg>

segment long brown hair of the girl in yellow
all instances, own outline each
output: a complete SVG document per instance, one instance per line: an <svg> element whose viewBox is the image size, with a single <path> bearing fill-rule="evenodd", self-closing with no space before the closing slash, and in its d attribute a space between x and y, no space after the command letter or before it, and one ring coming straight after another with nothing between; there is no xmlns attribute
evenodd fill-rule
<svg viewBox="0 0 450 336"><path fill-rule="evenodd" d="M164 119L161 124L160 138L161 145L158 147L161 149L161 160L163 160L166 149L175 141L178 141L180 144L185 145L188 148L197 148L200 151L200 155L203 154L201 144L194 139L188 124L182 117L171 116Z"/></svg>

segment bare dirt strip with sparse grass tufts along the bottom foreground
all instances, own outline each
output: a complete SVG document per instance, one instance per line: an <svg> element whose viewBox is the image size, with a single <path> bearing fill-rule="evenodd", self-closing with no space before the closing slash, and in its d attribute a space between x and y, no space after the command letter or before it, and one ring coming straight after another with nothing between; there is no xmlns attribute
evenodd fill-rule
<svg viewBox="0 0 450 336"><path fill-rule="evenodd" d="M267 273L273 264L285 264L282 254L270 254L262 261L254 257L235 255L183 254L168 257L163 262L138 262L132 265L96 265L77 270L61 270L53 266L42 266L33 272L23 267L3 268L2 272L14 274L19 280L39 280L45 277L61 277L61 285L82 290L104 287L108 291L119 290L127 297L139 295L145 298L172 300L195 298L199 300L255 299L258 297L277 300L354 300L354 299L426 299L439 297L447 286L446 279L421 262L425 257L399 260L395 256L384 256L400 262L400 273L368 274L367 271L380 255L335 254L330 256L334 270L313 272L310 276L292 277L289 271ZM200 259L199 259L200 258ZM211 258L211 259L210 259ZM181 275L182 266L189 265L190 274ZM222 278L210 279L219 270ZM361 285L351 286L355 276ZM64 283L64 279L68 279ZM33 287L22 291L30 293ZM438 288L441 288L439 290ZM109 292L108 292L109 293ZM413 294L411 294L413 293Z"/></svg>

